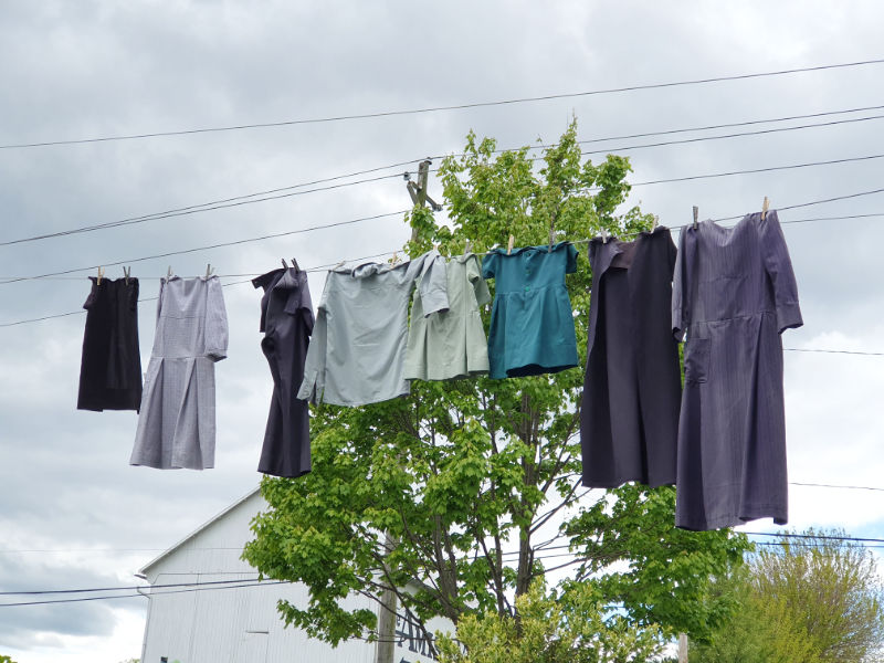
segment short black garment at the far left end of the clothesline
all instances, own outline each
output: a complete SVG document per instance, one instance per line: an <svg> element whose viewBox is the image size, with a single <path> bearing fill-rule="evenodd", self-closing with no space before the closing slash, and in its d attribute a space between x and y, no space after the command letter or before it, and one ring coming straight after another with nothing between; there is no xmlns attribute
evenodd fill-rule
<svg viewBox="0 0 884 663"><path fill-rule="evenodd" d="M91 276L83 308L83 357L77 410L138 410L141 352L138 348L138 280Z"/></svg>

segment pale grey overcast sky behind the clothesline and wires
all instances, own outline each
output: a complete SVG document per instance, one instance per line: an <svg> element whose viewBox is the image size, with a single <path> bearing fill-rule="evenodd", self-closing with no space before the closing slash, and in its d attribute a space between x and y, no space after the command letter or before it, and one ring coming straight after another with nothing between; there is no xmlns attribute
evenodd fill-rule
<svg viewBox="0 0 884 663"><path fill-rule="evenodd" d="M884 56L880 2L0 3L0 145L328 117L573 93ZM104 223L457 151L472 128L501 147L884 105L884 65L227 133L0 149L0 241ZM884 122L624 150L630 145L884 115L869 110L600 144L631 181L884 152ZM402 168L381 171L396 173ZM649 185L629 204L665 225L882 187L881 160ZM440 197L438 183L431 194ZM0 246L0 276L157 253L403 210L400 178L231 209ZM624 208L625 209L625 208ZM884 194L783 211L806 325L785 345L884 351L878 246ZM180 275L259 274L391 252L401 215L133 262L141 297ZM581 239L581 238L572 238ZM501 238L502 242L506 238ZM109 277L122 276L108 267ZM77 311L86 272L0 284L0 324ZM225 283L248 276L225 276ZM324 275L311 277L314 301ZM217 366L217 469L130 467L134 412L75 409L85 315L0 327L0 591L131 585L160 550L252 490L272 390L260 295L224 288L230 358ZM143 364L155 304L140 305ZM884 487L884 357L786 354L790 480ZM791 487L790 525L884 537L884 493ZM769 520L751 530L771 529ZM6 597L4 597L6 599ZM138 656L140 599L0 608L0 654L19 663Z"/></svg>

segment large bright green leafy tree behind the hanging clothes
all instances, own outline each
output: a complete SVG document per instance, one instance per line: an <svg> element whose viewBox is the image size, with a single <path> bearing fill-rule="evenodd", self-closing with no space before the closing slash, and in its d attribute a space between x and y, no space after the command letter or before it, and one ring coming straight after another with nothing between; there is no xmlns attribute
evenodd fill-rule
<svg viewBox="0 0 884 663"><path fill-rule="evenodd" d="M449 223L415 207L406 251L438 244L455 255L467 240L482 252L511 234L529 245L550 233L560 241L646 229L651 217L638 208L614 214L630 189L628 159L583 160L576 134L573 123L535 158L529 147L498 151L471 133L463 155L439 169ZM590 283L582 259L567 277L581 366ZM262 482L270 511L255 518L244 559L263 577L306 583L308 604L283 601L280 611L333 644L375 635L376 609L344 608L350 594L378 601L393 591L420 623L518 618L517 598L566 568L569 580L549 590L559 600L591 592L636 625L704 638L732 606L709 594L708 578L739 564L748 544L726 530L676 530L671 487L624 486L590 499L580 487L582 385L579 368L415 381L406 398L315 408L313 472Z"/></svg>

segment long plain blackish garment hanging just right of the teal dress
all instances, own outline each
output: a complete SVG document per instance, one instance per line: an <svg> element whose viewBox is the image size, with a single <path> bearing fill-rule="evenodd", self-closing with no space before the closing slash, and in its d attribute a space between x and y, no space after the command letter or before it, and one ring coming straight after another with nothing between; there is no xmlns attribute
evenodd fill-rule
<svg viewBox="0 0 884 663"><path fill-rule="evenodd" d="M675 483L678 344L672 336L676 250L669 229L589 243L592 299L580 407L585 486Z"/></svg>

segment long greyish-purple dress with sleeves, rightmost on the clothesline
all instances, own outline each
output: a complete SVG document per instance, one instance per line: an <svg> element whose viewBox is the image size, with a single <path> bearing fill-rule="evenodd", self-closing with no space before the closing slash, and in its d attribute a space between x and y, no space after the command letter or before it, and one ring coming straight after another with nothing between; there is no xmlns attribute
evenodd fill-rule
<svg viewBox="0 0 884 663"><path fill-rule="evenodd" d="M788 517L780 334L802 325L777 212L682 231L672 294L687 332L675 525Z"/></svg>

